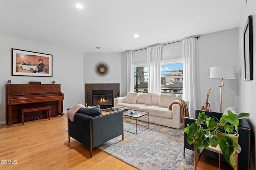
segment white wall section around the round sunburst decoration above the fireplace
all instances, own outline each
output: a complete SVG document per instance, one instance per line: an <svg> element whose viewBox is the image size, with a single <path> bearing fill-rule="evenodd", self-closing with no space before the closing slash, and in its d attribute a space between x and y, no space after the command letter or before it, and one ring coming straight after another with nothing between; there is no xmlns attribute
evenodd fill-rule
<svg viewBox="0 0 256 170"><path fill-rule="evenodd" d="M110 66L110 73L105 77L98 76L94 68L98 62L104 61ZM84 53L85 83L119 83L122 92L122 55L121 53ZM83 86L84 86L83 84ZM120 94L121 95L121 94ZM83 95L84 96L84 95Z"/></svg>

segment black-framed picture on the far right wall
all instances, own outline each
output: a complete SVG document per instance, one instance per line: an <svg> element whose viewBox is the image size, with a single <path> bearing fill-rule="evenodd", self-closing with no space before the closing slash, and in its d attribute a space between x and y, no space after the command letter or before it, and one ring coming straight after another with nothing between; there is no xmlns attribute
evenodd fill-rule
<svg viewBox="0 0 256 170"><path fill-rule="evenodd" d="M244 80L253 80L252 16L248 16L244 28Z"/></svg>

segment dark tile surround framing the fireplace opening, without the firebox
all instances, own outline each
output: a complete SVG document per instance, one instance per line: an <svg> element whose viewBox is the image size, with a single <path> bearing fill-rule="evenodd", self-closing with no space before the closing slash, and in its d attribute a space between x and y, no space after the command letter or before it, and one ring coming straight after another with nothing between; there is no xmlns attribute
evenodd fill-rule
<svg viewBox="0 0 256 170"><path fill-rule="evenodd" d="M119 83L102 83L102 84L84 84L84 103L92 106L92 90L113 90L113 106L114 98L119 97Z"/></svg>

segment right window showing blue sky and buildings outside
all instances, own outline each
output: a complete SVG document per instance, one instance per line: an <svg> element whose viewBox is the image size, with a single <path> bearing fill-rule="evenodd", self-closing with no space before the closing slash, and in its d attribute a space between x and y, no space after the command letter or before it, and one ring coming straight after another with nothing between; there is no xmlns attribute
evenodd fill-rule
<svg viewBox="0 0 256 170"><path fill-rule="evenodd" d="M182 94L183 63L161 65L162 93Z"/></svg>

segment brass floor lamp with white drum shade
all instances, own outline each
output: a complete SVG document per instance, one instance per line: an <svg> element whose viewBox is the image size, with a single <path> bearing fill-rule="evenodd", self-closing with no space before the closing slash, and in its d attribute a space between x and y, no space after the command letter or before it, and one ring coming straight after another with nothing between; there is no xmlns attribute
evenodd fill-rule
<svg viewBox="0 0 256 170"><path fill-rule="evenodd" d="M233 66L213 66L210 68L210 79L221 79L220 88L220 113L222 112L222 87L224 87L223 79L235 79L235 67Z"/></svg>

